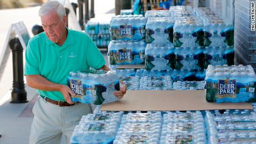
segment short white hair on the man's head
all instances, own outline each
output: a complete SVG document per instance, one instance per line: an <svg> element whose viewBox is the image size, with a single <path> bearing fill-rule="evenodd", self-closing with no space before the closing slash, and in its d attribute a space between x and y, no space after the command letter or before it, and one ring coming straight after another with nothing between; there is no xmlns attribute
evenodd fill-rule
<svg viewBox="0 0 256 144"><path fill-rule="evenodd" d="M66 10L61 3L58 1L48 1L44 3L41 8L39 9L38 15L40 17L49 14L51 11L57 12L58 16L60 17L61 21L63 16L66 15Z"/></svg>

